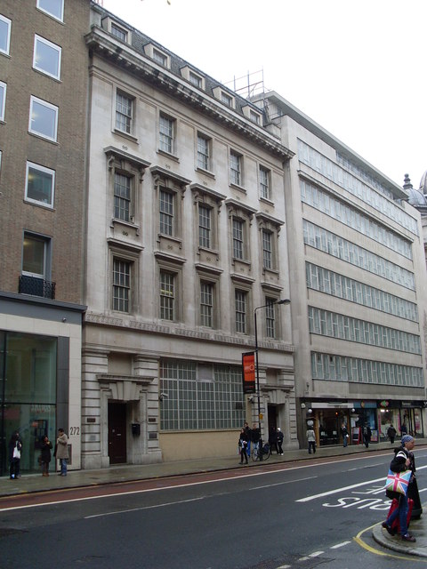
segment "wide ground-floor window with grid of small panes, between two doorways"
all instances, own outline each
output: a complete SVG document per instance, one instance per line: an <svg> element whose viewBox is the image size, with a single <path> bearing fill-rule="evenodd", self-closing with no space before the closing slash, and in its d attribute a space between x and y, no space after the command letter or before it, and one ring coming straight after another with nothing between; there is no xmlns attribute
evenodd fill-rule
<svg viewBox="0 0 427 569"><path fill-rule="evenodd" d="M160 363L160 428L238 429L244 421L242 375L238 366Z"/></svg>

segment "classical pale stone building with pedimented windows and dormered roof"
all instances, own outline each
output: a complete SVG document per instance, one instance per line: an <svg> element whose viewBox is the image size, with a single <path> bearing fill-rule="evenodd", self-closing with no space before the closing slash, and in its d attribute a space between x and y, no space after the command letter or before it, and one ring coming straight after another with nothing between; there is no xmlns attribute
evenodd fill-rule
<svg viewBox="0 0 427 569"><path fill-rule="evenodd" d="M235 92L93 5L82 464L237 452L258 312L262 426L298 445L284 184Z"/></svg>

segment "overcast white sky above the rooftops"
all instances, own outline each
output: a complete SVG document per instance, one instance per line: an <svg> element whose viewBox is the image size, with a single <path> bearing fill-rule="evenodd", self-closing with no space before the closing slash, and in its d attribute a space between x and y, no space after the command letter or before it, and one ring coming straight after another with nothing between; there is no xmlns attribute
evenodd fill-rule
<svg viewBox="0 0 427 569"><path fill-rule="evenodd" d="M214 79L263 81L394 182L427 170L426 0L101 0ZM240 79L243 78L241 81Z"/></svg>

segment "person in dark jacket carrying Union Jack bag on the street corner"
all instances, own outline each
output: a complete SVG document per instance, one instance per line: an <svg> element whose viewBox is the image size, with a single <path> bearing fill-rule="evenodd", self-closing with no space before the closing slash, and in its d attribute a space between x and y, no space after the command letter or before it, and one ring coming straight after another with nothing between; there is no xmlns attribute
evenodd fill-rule
<svg viewBox="0 0 427 569"><path fill-rule="evenodd" d="M412 480L415 479L415 459L414 454L412 453L412 449L415 446L415 439L410 435L404 435L401 440L402 445L400 448L395 449L394 451L394 458L391 461L390 469L393 472L403 472L407 469L411 469L413 475L411 477L411 481L409 482L408 486L408 493L409 487L412 484ZM383 528L387 530L388 533L394 535L394 531L391 528L394 520L399 517L399 525L400 525L400 535L403 541L410 541L414 542L415 537L408 533L407 531L407 500L408 495L400 494L396 492L391 492L387 490L386 492L388 498L397 498L399 500L399 507L396 508L392 513L391 516L387 517L385 522L383 522Z"/></svg>

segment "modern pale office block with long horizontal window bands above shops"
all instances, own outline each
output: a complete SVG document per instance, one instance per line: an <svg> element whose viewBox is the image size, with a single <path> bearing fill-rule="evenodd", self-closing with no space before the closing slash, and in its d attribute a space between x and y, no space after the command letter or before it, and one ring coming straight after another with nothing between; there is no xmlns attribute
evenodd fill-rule
<svg viewBox="0 0 427 569"><path fill-rule="evenodd" d="M257 104L281 132L300 443L372 442L391 423L425 435L426 273L420 213L399 187L276 92Z"/></svg>

